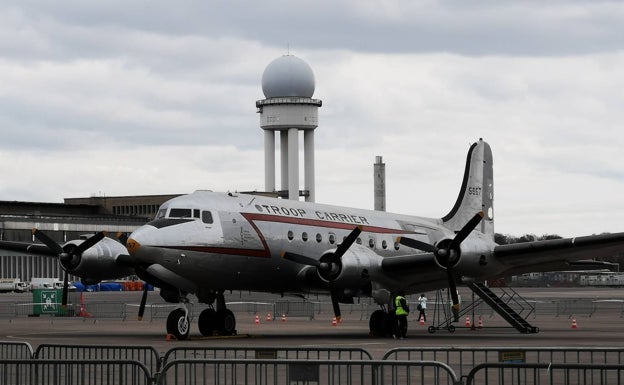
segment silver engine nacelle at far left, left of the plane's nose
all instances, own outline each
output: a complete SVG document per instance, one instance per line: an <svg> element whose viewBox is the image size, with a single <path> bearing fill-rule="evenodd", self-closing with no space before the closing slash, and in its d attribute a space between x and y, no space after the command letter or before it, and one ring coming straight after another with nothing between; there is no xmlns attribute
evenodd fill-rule
<svg viewBox="0 0 624 385"><path fill-rule="evenodd" d="M81 240L69 241L63 245L63 249L67 250L82 242ZM134 270L116 262L120 254L128 254L128 251L121 243L105 237L95 246L85 250L81 256L63 264L63 268L70 274L88 281L127 277L133 274Z"/></svg>

